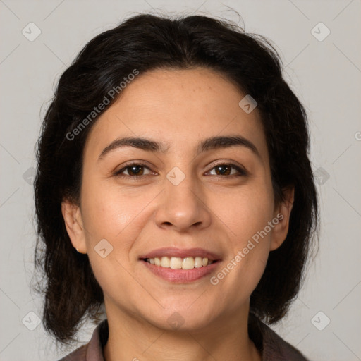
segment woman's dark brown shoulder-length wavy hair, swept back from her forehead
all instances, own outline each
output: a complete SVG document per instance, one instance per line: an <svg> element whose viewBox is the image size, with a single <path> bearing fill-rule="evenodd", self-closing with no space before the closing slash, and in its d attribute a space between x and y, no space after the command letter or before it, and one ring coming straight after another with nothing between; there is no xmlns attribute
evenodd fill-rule
<svg viewBox="0 0 361 361"><path fill-rule="evenodd" d="M97 117L74 140L67 135L134 69L142 74L195 66L218 71L257 101L275 202L283 200L285 188L295 188L287 238L270 252L250 310L274 323L298 294L317 228L317 192L305 109L283 80L279 55L264 37L225 20L137 15L86 44L61 75L42 123L35 178L35 264L44 277L37 285L44 295L44 328L56 341L76 341L73 336L82 321L89 317L99 322L104 302L89 259L73 248L61 214L64 197L79 201L82 152Z"/></svg>

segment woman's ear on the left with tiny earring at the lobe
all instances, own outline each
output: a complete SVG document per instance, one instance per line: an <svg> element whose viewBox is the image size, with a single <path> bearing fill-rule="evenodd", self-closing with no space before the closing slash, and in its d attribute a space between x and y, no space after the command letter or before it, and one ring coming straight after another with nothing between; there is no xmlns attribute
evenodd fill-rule
<svg viewBox="0 0 361 361"><path fill-rule="evenodd" d="M82 216L80 207L71 200L64 199L61 202L61 213L63 214L66 231L73 247L80 253L87 253L87 247L85 243L85 229L82 224Z"/></svg>

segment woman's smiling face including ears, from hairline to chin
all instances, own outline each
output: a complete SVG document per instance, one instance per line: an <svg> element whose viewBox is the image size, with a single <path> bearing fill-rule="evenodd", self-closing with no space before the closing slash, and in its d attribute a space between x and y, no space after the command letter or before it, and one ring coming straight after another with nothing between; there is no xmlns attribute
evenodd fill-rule
<svg viewBox="0 0 361 361"><path fill-rule="evenodd" d="M209 69L150 71L94 124L80 209L64 202L63 214L73 212L68 233L108 317L202 329L247 312L290 207L274 204L262 123L238 104L245 95ZM204 266L207 256L217 262Z"/></svg>

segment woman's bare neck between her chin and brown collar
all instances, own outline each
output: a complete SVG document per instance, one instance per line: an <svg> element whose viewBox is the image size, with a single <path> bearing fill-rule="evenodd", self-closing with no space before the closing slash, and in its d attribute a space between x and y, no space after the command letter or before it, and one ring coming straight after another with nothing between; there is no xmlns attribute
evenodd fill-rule
<svg viewBox="0 0 361 361"><path fill-rule="evenodd" d="M247 310L219 317L200 329L161 329L127 312L106 307L109 338L105 361L261 361L248 336Z"/></svg>

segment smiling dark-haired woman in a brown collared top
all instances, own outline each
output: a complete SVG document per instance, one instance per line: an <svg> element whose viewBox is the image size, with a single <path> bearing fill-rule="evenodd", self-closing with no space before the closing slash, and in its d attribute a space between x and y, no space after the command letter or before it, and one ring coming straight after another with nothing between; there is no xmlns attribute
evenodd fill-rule
<svg viewBox="0 0 361 361"><path fill-rule="evenodd" d="M139 15L92 39L37 150L44 327L69 344L98 324L62 360L306 360L267 324L298 294L317 227L308 152L264 38Z"/></svg>

